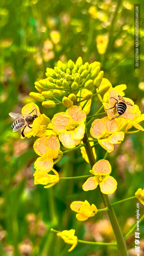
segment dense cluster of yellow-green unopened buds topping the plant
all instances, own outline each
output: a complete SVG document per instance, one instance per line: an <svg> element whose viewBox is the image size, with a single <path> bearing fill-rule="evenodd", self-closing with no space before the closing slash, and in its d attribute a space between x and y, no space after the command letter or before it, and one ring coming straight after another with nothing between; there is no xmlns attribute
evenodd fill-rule
<svg viewBox="0 0 144 256"><path fill-rule="evenodd" d="M88 90L85 97L81 97L81 100L91 99L94 88L98 88L101 84L103 73L100 71L100 63L97 61L83 64L81 57L79 57L76 63L69 60L66 65L59 60L54 69L46 69L46 79L35 82L38 93L31 92L29 95L42 102L46 108L54 108L60 102L70 108L74 101L79 100L76 96L79 90ZM63 98L57 99L57 97Z"/></svg>

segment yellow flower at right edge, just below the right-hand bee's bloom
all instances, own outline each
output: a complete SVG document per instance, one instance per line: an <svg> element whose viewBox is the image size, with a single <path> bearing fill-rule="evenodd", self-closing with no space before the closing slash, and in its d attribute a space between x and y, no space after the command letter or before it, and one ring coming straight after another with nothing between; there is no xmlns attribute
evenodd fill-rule
<svg viewBox="0 0 144 256"><path fill-rule="evenodd" d="M127 130L134 126L136 129L144 131L143 127L138 124L139 122L144 120L144 114L141 114L141 111L139 110L139 107L137 105L134 105L133 114L133 119L118 118L116 120L119 124L119 130L122 129L123 131L127 132Z"/></svg>

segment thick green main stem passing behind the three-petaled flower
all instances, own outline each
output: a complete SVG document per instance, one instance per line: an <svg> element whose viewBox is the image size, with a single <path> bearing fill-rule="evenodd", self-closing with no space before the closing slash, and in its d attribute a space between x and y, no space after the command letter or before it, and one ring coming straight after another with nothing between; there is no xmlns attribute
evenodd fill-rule
<svg viewBox="0 0 144 256"><path fill-rule="evenodd" d="M87 133L85 132L85 135L83 138L83 143L85 143L85 150L86 150L86 153L87 153L87 156L89 159L89 163L92 168L94 166L94 164L96 163L96 160L95 160L94 154L92 152L92 148L87 140L88 140L88 136L87 136ZM107 213L108 213L109 220L111 222L111 226L112 226L114 234L115 234L115 238L116 238L116 241L118 244L120 256L128 256L126 244L125 244L124 238L122 236L122 232L121 232L117 217L115 215L114 209L111 206L109 197L108 197L108 195L102 194L100 191L100 187L98 187L98 188L99 188L99 193L101 195L104 206L108 207Z"/></svg>

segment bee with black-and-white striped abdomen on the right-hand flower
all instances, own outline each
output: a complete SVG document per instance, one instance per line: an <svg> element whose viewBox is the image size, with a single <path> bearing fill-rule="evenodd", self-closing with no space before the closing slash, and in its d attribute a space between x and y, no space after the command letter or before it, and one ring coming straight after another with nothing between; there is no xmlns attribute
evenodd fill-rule
<svg viewBox="0 0 144 256"><path fill-rule="evenodd" d="M115 119L115 118L118 118L119 116L121 116L122 114L125 113L126 109L127 109L127 105L130 105L130 106L133 106L130 102L128 101L125 101L124 98L122 98L120 95L118 95L118 98L119 100L115 99L114 97L111 97L113 98L114 100L116 100L116 103L115 105L110 108L110 109L113 109L115 108L118 112L119 115L115 116L114 118L112 118L111 120ZM107 109L109 110L109 109Z"/></svg>

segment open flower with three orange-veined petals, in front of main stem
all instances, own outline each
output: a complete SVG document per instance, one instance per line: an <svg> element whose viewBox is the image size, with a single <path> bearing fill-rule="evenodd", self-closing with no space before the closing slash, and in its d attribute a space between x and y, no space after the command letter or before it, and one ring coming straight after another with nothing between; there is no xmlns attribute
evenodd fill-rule
<svg viewBox="0 0 144 256"><path fill-rule="evenodd" d="M85 191L95 189L99 184L102 193L112 194L115 192L117 189L117 182L113 177L109 176L111 173L111 166L107 160L99 160L94 164L90 173L95 176L88 178L83 184L83 189Z"/></svg>

